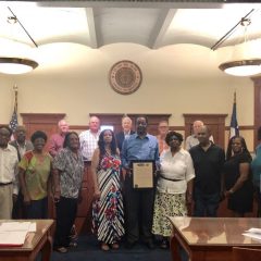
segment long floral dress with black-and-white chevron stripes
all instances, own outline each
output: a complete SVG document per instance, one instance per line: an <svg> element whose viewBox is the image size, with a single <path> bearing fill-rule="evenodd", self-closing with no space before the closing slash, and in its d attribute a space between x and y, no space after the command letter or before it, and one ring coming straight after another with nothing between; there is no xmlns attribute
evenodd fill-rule
<svg viewBox="0 0 261 261"><path fill-rule="evenodd" d="M92 229L98 240L113 244L124 235L123 197L117 156L105 154L97 171L100 199L92 203Z"/></svg>

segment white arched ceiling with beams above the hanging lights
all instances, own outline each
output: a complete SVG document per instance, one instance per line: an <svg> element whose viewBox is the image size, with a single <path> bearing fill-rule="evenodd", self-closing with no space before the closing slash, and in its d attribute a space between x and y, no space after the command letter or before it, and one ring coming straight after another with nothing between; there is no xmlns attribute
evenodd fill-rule
<svg viewBox="0 0 261 261"><path fill-rule="evenodd" d="M260 1L231 2L236 1L0 1L0 38L34 46L22 24L38 46L134 42L151 49L175 44L211 48L249 12L248 37L259 38ZM21 24L7 22L13 14ZM239 25L222 47L241 42L243 36Z"/></svg>

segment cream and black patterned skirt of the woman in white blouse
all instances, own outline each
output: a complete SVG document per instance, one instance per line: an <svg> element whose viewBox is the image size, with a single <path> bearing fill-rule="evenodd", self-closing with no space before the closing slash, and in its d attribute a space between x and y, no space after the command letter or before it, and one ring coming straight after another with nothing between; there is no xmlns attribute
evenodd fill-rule
<svg viewBox="0 0 261 261"><path fill-rule="evenodd" d="M172 224L166 216L187 215L185 194L156 194L152 233L163 237L172 235Z"/></svg>

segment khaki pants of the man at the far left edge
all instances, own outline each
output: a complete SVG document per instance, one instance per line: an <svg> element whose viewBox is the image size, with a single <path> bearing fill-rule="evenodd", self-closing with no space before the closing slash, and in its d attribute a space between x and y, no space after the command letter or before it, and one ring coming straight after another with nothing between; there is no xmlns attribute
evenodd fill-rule
<svg viewBox="0 0 261 261"><path fill-rule="evenodd" d="M13 209L13 184L0 186L0 220L11 220Z"/></svg>

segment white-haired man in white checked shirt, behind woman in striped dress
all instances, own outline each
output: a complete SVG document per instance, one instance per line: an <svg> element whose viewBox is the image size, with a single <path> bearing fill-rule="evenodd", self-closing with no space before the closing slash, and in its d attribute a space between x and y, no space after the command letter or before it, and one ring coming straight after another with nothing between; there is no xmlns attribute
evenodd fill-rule
<svg viewBox="0 0 261 261"><path fill-rule="evenodd" d="M100 135L100 120L91 116L89 121L89 129L79 134L80 150L84 161L91 161L95 149L98 147Z"/></svg>

